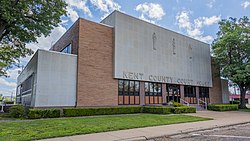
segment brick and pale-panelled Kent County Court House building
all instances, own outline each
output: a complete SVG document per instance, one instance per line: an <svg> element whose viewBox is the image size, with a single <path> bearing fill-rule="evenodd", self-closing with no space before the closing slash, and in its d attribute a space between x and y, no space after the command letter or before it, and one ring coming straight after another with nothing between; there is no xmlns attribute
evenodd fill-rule
<svg viewBox="0 0 250 141"><path fill-rule="evenodd" d="M118 11L100 23L78 19L17 83L17 102L31 107L229 100L208 44Z"/></svg>

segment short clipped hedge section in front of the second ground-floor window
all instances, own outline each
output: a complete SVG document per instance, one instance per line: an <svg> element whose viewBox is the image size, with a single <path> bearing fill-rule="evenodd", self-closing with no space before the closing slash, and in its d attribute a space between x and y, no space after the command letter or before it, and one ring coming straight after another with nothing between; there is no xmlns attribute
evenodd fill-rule
<svg viewBox="0 0 250 141"><path fill-rule="evenodd" d="M145 106L143 107L143 113L171 114L171 108L163 106Z"/></svg>

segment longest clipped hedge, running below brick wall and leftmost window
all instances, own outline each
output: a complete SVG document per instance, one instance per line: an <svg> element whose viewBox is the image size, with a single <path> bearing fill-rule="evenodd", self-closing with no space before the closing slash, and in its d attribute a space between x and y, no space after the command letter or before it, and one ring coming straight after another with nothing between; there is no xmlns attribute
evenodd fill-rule
<svg viewBox="0 0 250 141"><path fill-rule="evenodd" d="M65 117L113 115L113 114L134 114L141 113L142 107L105 107L105 108L64 108Z"/></svg>

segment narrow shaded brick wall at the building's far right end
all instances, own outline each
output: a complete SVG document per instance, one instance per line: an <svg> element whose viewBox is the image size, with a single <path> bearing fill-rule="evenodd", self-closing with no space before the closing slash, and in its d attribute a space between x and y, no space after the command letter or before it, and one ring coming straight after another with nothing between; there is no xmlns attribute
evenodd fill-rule
<svg viewBox="0 0 250 141"><path fill-rule="evenodd" d="M213 87L209 89L210 103L222 103L220 68L212 59Z"/></svg>

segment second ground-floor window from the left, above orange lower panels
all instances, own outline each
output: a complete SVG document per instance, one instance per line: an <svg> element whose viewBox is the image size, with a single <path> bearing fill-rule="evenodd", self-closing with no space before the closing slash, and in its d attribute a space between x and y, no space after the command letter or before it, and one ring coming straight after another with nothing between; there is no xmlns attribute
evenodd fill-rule
<svg viewBox="0 0 250 141"><path fill-rule="evenodd" d="M145 103L161 104L162 103L162 85L161 83L145 82Z"/></svg>

